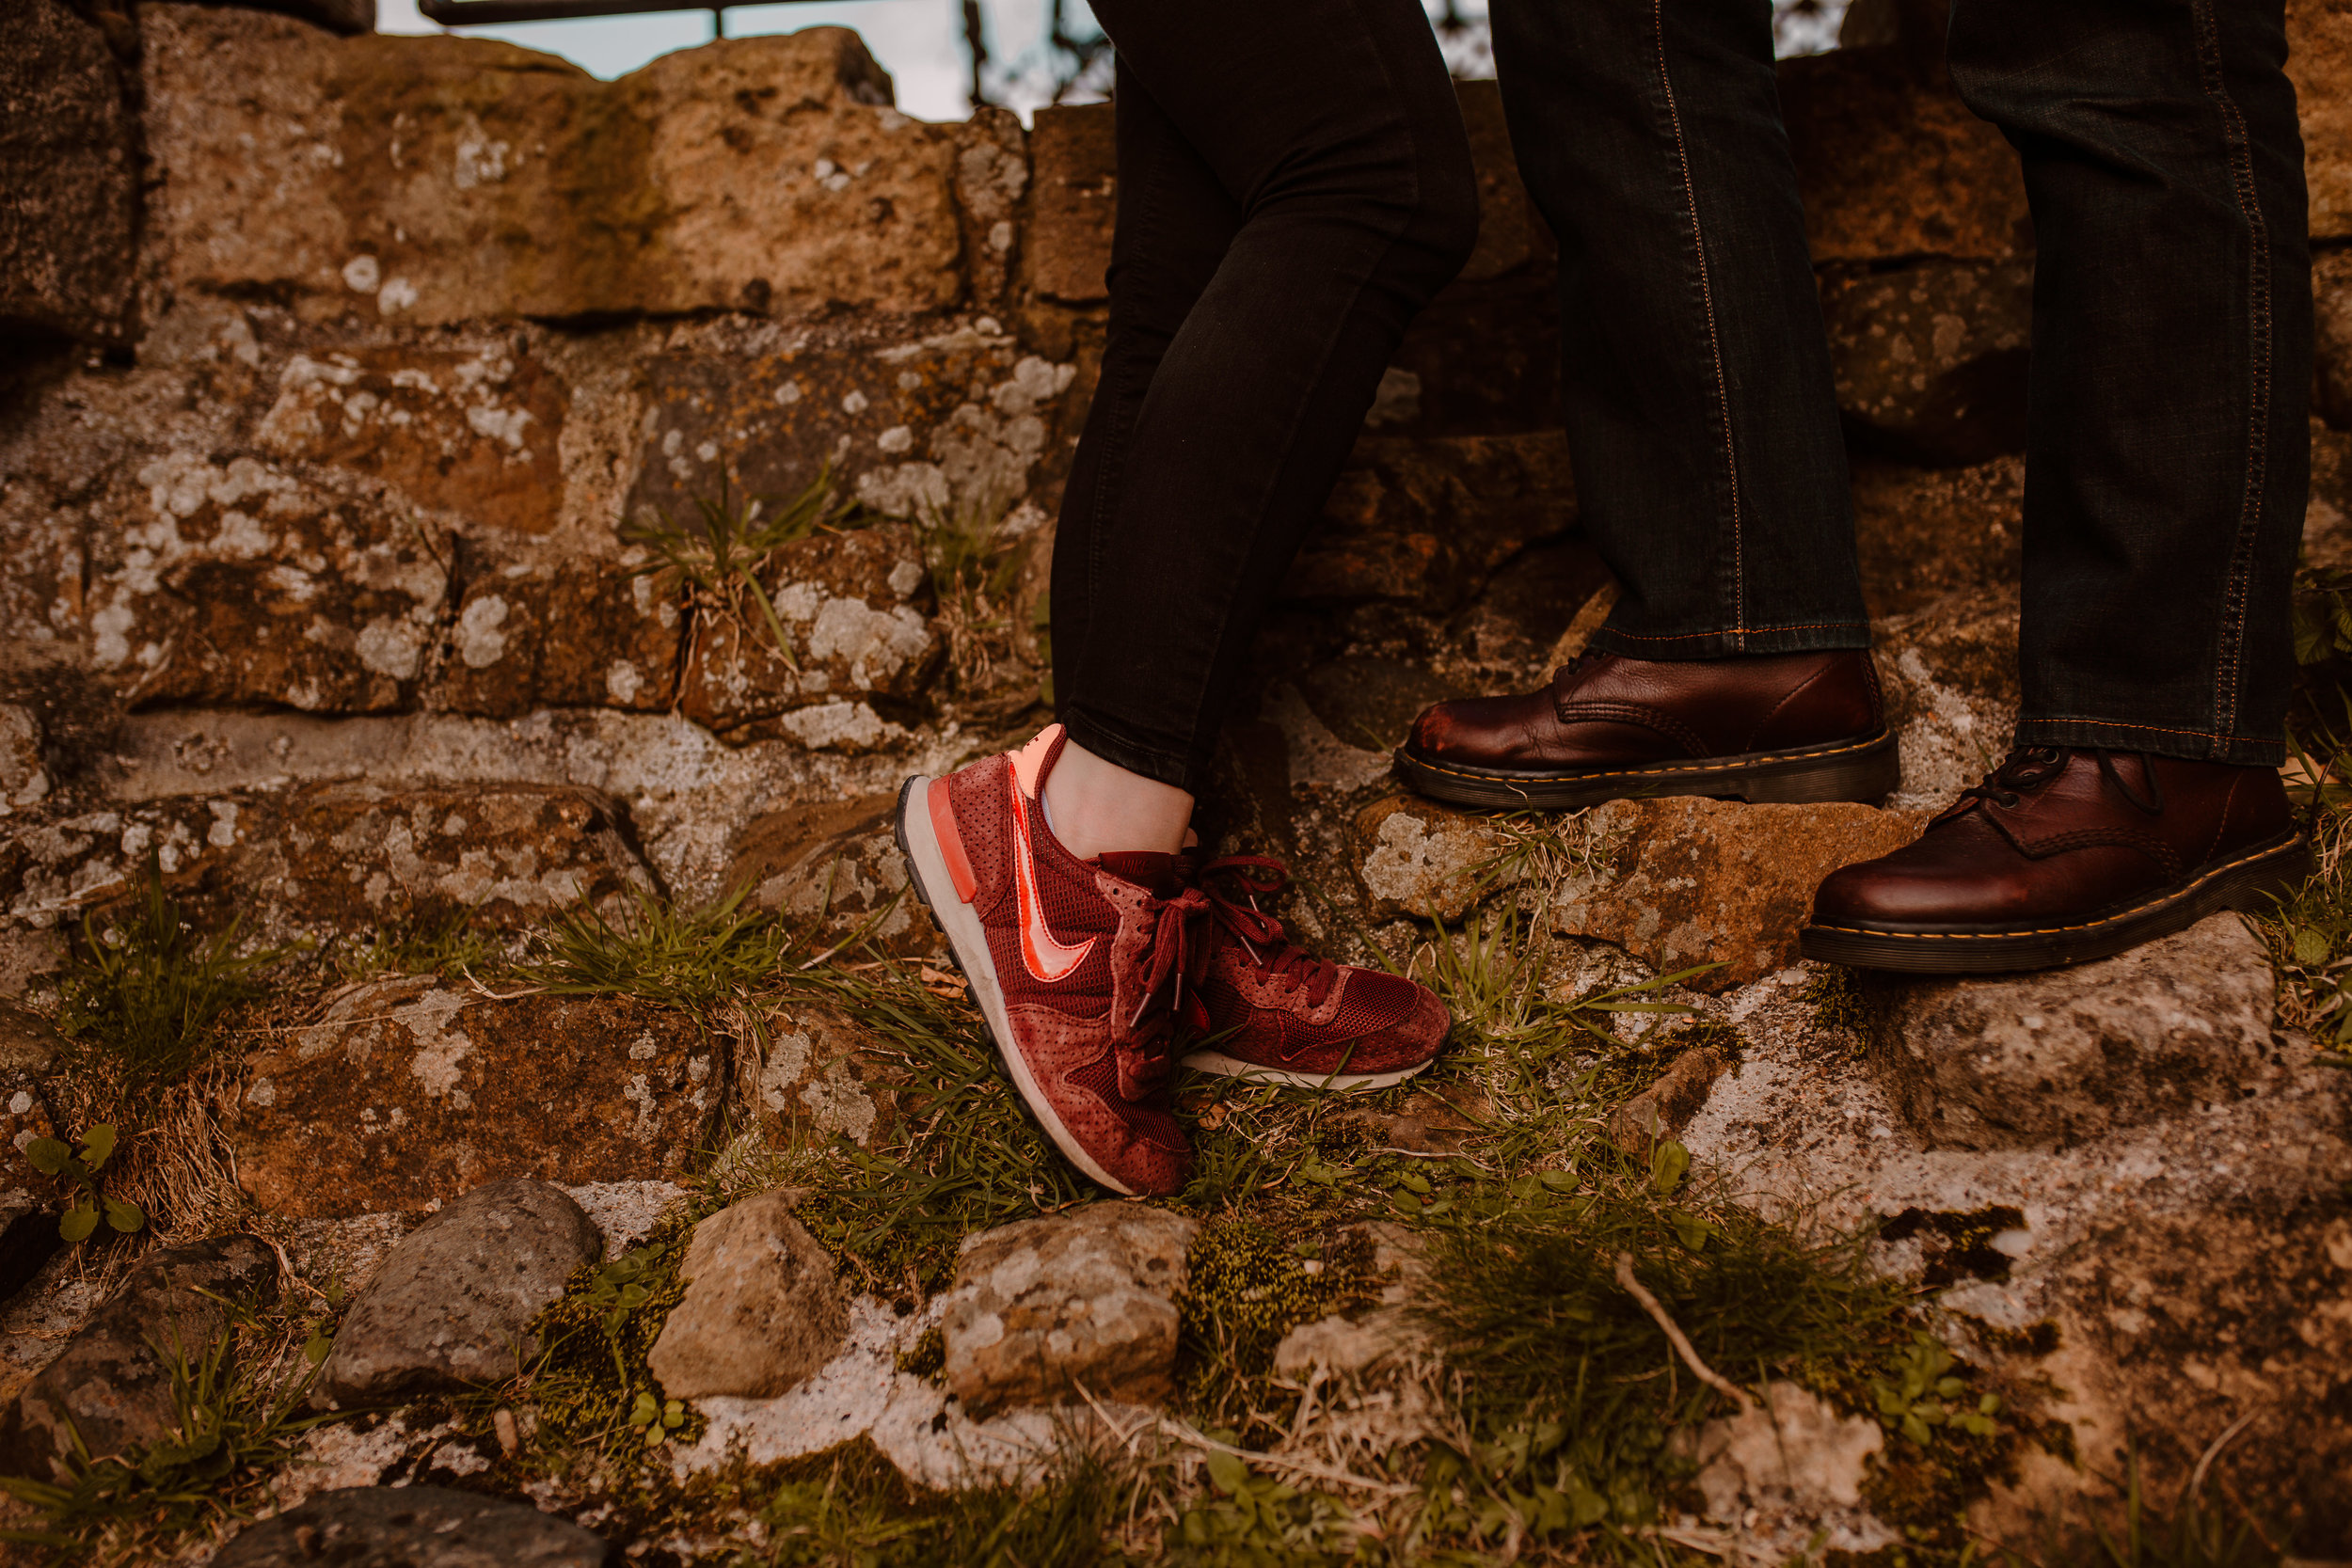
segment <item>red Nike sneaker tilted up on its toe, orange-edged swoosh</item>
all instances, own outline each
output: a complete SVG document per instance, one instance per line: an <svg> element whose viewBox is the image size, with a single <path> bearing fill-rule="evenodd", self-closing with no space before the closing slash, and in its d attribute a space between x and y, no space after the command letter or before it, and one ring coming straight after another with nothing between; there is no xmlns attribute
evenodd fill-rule
<svg viewBox="0 0 2352 1568"><path fill-rule="evenodd" d="M1018 752L908 778L898 849L1047 1135L1112 1192L1169 1194L1192 1173L1169 1074L1209 900L1176 856L1061 846L1040 802L1063 741L1051 724Z"/></svg>

